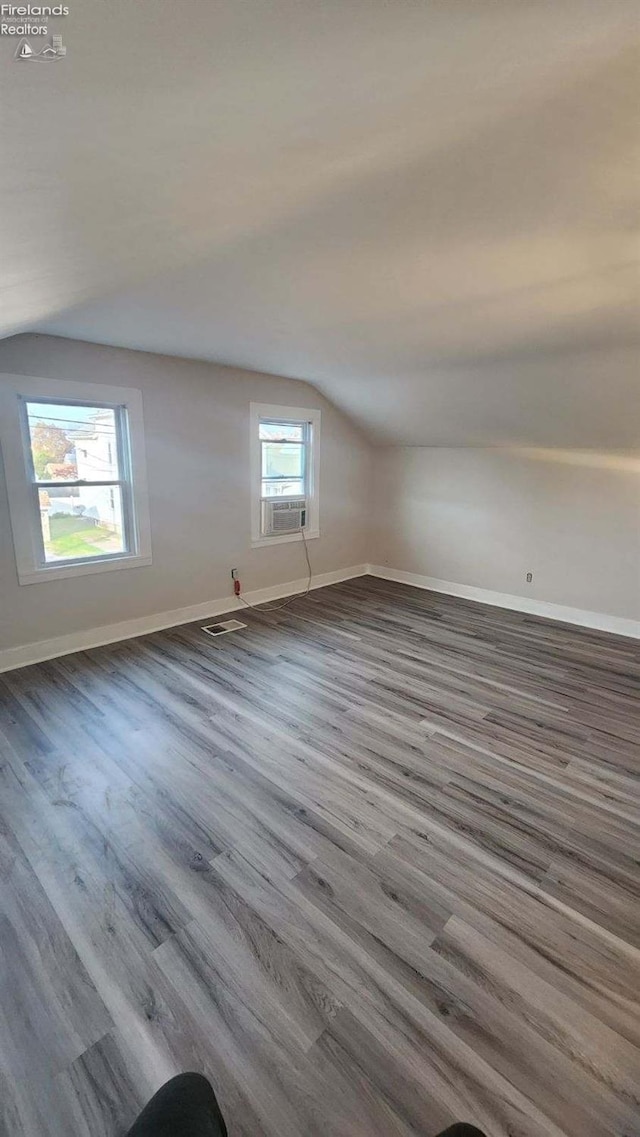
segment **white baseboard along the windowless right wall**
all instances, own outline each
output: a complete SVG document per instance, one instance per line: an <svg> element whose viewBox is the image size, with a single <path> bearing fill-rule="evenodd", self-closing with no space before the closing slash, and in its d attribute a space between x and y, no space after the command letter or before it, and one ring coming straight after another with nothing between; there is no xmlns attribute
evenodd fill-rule
<svg viewBox="0 0 640 1137"><path fill-rule="evenodd" d="M413 584L430 592L446 592L448 596L462 596L466 600L477 600L480 604L492 604L498 608L512 608L515 612L529 612L534 616L557 620L564 624L579 624L581 628L593 628L601 632L613 632L615 636L630 636L640 639L640 620L626 620L623 616L609 616L605 612L589 612L585 608L570 608L564 604L550 604L546 600L533 600L527 596L510 596L508 592L492 592L488 588L474 588L472 584L456 584L450 580L438 580L437 576L422 576L415 572L402 572L401 568L388 568L384 565L367 565L372 576L382 580L393 580L399 584Z"/></svg>

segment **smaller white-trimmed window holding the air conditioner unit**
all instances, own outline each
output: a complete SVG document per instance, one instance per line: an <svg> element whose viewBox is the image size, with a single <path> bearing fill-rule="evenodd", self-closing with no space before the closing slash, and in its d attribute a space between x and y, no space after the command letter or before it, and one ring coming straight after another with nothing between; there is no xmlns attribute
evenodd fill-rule
<svg viewBox="0 0 640 1137"><path fill-rule="evenodd" d="M319 537L319 410L251 404L253 546Z"/></svg>

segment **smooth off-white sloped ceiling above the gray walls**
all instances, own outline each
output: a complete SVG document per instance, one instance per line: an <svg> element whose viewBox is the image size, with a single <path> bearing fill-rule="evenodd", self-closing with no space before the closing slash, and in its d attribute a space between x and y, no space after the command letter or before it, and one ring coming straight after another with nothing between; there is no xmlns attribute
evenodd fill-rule
<svg viewBox="0 0 640 1137"><path fill-rule="evenodd" d="M640 443L638 0L55 24L0 38L0 334L307 379L383 441Z"/></svg>

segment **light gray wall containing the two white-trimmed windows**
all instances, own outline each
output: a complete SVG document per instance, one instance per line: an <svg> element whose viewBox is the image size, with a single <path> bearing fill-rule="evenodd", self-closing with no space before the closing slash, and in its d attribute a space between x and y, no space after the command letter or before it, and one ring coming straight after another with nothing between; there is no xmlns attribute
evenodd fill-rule
<svg viewBox="0 0 640 1137"><path fill-rule="evenodd" d="M19 586L0 464L0 647L153 615L306 575L298 543L250 548L249 402L322 410L315 573L367 559L372 451L307 383L45 335L0 342L1 373L136 387L144 400L153 564Z"/></svg>

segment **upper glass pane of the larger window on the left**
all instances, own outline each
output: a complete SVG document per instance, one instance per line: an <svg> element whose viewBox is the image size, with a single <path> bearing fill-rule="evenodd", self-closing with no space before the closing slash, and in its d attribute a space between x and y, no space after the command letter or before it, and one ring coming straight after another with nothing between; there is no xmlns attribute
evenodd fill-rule
<svg viewBox="0 0 640 1137"><path fill-rule="evenodd" d="M116 413L110 407L27 402L33 468L39 482L117 481Z"/></svg>

